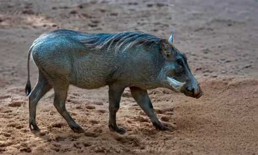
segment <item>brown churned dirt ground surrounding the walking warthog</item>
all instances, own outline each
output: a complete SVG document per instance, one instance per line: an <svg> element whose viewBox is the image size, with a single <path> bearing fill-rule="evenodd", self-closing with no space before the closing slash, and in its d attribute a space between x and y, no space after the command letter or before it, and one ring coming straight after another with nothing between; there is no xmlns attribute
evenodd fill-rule
<svg viewBox="0 0 258 155"><path fill-rule="evenodd" d="M258 2L16 1L0 2L0 154L258 154ZM66 102L85 134L75 134L53 106L53 90L37 107L40 132L28 127L27 53L41 33L137 30L176 46L205 95L149 90L158 117L173 131L154 129L125 90L117 122L108 128L108 88L70 87ZM31 63L33 85L37 68Z"/></svg>

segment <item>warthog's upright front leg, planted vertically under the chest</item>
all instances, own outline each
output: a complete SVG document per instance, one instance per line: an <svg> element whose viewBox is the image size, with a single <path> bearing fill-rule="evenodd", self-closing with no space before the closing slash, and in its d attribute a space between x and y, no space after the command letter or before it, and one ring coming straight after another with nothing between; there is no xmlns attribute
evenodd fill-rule
<svg viewBox="0 0 258 155"><path fill-rule="evenodd" d="M109 128L111 131L115 131L119 134L124 134L126 132L116 124L116 112L119 109L123 91L124 88L109 86Z"/></svg>

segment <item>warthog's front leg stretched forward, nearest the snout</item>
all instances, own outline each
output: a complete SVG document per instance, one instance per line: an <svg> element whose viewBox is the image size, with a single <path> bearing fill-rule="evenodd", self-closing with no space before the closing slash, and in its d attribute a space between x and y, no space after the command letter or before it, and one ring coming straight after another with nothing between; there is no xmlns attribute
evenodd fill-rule
<svg viewBox="0 0 258 155"><path fill-rule="evenodd" d="M150 118L153 126L156 127L157 130L169 130L168 127L166 127L162 122L159 121L156 114L154 113L154 109L148 96L147 90L143 90L138 87L130 87L130 89L132 96L134 97L138 105L142 108L142 110Z"/></svg>

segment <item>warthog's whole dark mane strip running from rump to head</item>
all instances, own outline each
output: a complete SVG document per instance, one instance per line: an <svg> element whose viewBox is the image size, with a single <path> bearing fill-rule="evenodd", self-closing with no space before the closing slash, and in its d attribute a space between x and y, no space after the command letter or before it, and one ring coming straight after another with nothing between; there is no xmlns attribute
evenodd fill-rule
<svg viewBox="0 0 258 155"><path fill-rule="evenodd" d="M53 35L66 35L78 40L87 48L100 50L102 48L126 50L136 45L153 48L160 45L161 38L143 32L126 31L122 33L84 33L72 30L56 30Z"/></svg>

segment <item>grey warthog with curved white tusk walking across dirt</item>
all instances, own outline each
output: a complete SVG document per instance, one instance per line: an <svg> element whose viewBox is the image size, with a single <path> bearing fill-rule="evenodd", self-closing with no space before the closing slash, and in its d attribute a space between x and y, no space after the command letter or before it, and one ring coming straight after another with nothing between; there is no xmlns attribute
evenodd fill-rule
<svg viewBox="0 0 258 155"><path fill-rule="evenodd" d="M30 55L38 67L38 82L31 91ZM158 87L199 98L203 92L192 75L185 55L169 39L142 33L83 33L56 30L41 35L28 54L29 127L38 131L36 106L51 88L55 91L54 106L76 133L84 132L65 108L69 85L84 89L109 86L109 128L120 134L125 130L116 124L121 95L126 87L150 118L154 127L165 131L154 114L147 90Z"/></svg>

